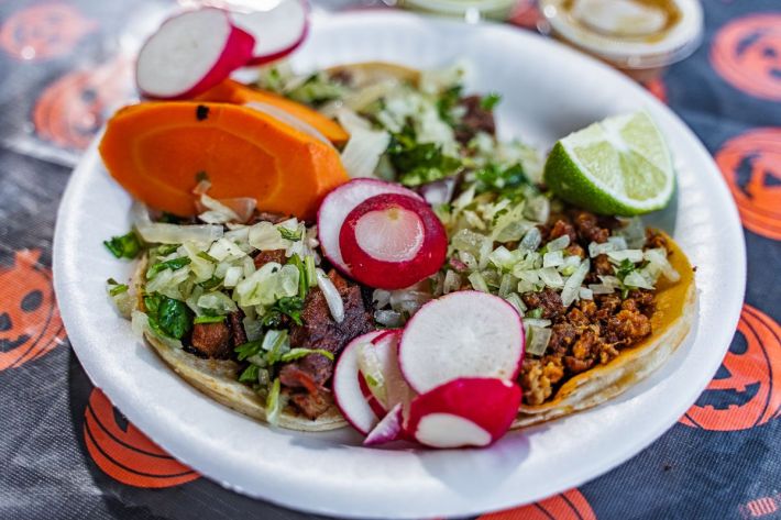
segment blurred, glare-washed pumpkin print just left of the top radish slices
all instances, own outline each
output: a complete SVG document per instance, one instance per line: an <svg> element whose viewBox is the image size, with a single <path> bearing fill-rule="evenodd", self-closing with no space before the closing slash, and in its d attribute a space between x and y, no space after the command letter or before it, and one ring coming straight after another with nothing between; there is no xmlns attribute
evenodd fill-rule
<svg viewBox="0 0 781 520"><path fill-rule="evenodd" d="M57 146L84 150L102 126L106 113L125 99L131 88L127 59L68 73L50 85L35 102L35 132Z"/></svg>

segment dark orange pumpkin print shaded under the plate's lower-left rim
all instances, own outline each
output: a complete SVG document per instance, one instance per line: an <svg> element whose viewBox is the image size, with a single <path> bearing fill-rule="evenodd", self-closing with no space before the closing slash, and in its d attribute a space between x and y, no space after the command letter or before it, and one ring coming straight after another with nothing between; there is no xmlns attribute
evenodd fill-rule
<svg viewBox="0 0 781 520"><path fill-rule="evenodd" d="M128 422L97 388L85 410L84 440L98 467L122 484L161 488L200 476Z"/></svg>

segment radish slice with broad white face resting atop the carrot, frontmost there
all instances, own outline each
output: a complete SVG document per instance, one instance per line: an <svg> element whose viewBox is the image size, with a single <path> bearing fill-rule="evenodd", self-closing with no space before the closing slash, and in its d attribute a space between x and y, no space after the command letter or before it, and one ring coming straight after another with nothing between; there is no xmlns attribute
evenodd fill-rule
<svg viewBox="0 0 781 520"><path fill-rule="evenodd" d="M185 12L164 22L141 48L135 81L148 98L191 98L246 65L254 45L226 11Z"/></svg>

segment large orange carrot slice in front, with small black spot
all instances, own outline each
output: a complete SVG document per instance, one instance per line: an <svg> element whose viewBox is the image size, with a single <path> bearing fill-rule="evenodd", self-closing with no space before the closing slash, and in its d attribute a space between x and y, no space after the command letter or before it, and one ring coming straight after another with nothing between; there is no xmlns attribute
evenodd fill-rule
<svg viewBox="0 0 781 520"><path fill-rule="evenodd" d="M196 214L204 176L216 198L252 197L257 208L312 219L322 198L346 182L326 143L251 108L146 102L109 120L100 155L111 176L151 208Z"/></svg>

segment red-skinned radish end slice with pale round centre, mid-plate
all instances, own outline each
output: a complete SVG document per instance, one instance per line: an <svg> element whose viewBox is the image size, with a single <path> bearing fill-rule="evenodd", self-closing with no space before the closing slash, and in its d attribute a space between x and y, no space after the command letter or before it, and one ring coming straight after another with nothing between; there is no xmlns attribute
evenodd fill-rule
<svg viewBox="0 0 781 520"><path fill-rule="evenodd" d="M348 214L339 248L353 278L370 287L404 289L442 267L448 235L426 202L383 193Z"/></svg>

